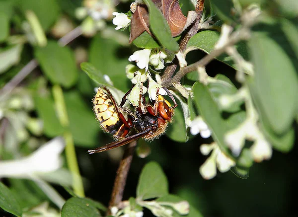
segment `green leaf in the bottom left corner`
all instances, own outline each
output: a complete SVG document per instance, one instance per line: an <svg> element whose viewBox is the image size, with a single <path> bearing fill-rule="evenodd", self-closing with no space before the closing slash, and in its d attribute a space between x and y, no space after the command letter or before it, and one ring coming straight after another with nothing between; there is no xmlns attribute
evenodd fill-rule
<svg viewBox="0 0 298 217"><path fill-rule="evenodd" d="M21 217L22 210L10 190L0 182L0 208L15 216Z"/></svg>

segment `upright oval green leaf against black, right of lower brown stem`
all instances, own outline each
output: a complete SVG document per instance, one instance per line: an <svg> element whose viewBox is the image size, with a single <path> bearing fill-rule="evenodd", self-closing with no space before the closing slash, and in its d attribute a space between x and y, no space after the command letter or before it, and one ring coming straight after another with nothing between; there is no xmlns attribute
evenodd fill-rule
<svg viewBox="0 0 298 217"><path fill-rule="evenodd" d="M151 161L143 168L137 187L137 198L147 200L168 194L168 183L158 163Z"/></svg>

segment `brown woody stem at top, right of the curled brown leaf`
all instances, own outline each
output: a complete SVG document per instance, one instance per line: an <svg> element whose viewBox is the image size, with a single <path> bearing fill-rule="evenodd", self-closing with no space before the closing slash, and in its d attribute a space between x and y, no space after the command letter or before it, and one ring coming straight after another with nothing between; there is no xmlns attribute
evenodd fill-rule
<svg viewBox="0 0 298 217"><path fill-rule="evenodd" d="M205 0L198 0L197 6L196 6L197 18L195 19L193 24L191 24L191 26L186 30L186 33L181 38L181 41L179 43L179 50L182 53L185 51L186 45L187 45L189 39L192 36L194 36L199 30L199 23L201 21L202 15L203 15L204 1ZM171 77L173 76L173 74L177 68L177 65L178 65L178 63L173 63L172 65L168 66L164 70L164 72L161 76L161 80L163 82L171 79Z"/></svg>

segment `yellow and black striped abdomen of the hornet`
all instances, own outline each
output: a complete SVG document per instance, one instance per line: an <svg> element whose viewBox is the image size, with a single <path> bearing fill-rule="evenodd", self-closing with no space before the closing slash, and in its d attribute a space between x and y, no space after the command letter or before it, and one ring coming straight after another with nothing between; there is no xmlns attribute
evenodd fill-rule
<svg viewBox="0 0 298 217"><path fill-rule="evenodd" d="M118 116L111 97L99 87L93 104L94 112L103 130L117 136L116 134L123 122Z"/></svg>

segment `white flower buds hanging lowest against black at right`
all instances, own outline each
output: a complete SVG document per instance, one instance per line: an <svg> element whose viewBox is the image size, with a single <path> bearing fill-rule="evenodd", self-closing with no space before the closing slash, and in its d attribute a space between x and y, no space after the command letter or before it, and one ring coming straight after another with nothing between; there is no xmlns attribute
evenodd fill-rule
<svg viewBox="0 0 298 217"><path fill-rule="evenodd" d="M212 151L210 157L200 167L200 173L204 179L212 179L216 176L218 167L220 172L227 172L231 167L236 165L236 162L225 155L216 143L210 145L203 144L200 147L202 154L207 155Z"/></svg>

